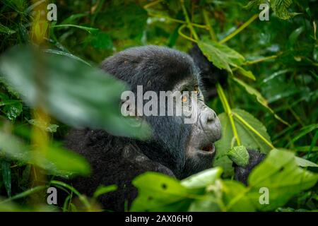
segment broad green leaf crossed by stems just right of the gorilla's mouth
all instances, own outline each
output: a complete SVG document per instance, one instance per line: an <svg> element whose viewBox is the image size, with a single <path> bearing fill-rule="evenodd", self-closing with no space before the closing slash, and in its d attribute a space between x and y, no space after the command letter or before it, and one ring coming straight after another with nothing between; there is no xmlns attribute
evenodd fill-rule
<svg viewBox="0 0 318 226"><path fill-rule="evenodd" d="M261 134L269 143L271 143L269 134L266 132L265 126L252 114L243 111L242 109L232 109L232 112L240 115L245 121L249 123L257 132ZM230 177L233 172L232 161L227 156L228 150L230 150L236 141L233 136L232 127L230 125L230 119L226 113L222 113L218 116L220 123L222 125L222 138L220 141L216 142L216 157L213 161L213 167L220 166L223 167L224 176ZM247 128L241 121L234 117L235 127L237 129L238 136L241 140L241 145L246 148L260 150L261 153L269 153L271 147L266 144L257 134Z"/></svg>

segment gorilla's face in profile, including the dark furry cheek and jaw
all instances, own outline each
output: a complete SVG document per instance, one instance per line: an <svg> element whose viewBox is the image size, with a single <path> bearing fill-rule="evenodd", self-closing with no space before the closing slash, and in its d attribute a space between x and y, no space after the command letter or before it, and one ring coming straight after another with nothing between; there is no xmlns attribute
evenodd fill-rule
<svg viewBox="0 0 318 226"><path fill-rule="evenodd" d="M172 169L178 179L212 167L216 154L214 143L221 136L220 120L216 112L206 106L199 88L199 74L191 73L184 77L173 88L157 92L166 93L165 116L144 117L153 128L155 146L162 147L158 148L160 151L151 150L147 153L148 157ZM160 109L163 107L160 105L162 96L158 96ZM167 113L171 110L168 100L174 100L170 116ZM178 107L182 108L181 115L177 114Z"/></svg>

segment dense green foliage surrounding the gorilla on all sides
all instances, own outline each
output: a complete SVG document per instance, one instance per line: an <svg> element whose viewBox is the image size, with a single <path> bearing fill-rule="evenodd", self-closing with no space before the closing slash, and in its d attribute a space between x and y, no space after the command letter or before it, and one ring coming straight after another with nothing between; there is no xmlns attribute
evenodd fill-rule
<svg viewBox="0 0 318 226"><path fill-rule="evenodd" d="M90 174L83 157L61 148L69 126L99 127L144 138L131 129L118 100L126 85L99 76L114 52L144 44L188 52L195 42L209 61L228 72L218 97L223 138L213 168L177 181L148 172L134 180L132 210L318 210L318 41L316 0L266 1L48 1L1 0L0 210L99 210L56 176ZM245 165L246 148L267 153L244 186L232 161ZM69 192L63 208L46 204L46 189ZM269 189L269 204L259 200Z"/></svg>

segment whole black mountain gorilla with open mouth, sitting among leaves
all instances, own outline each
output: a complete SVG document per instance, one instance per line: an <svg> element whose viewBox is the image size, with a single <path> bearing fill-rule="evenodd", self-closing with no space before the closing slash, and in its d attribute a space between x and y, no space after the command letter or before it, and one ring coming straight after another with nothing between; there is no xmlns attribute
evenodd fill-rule
<svg viewBox="0 0 318 226"><path fill-rule="evenodd" d="M143 85L143 93L160 91L193 91L197 93L194 124L184 124L184 116L141 116L152 128L146 141L112 136L103 130L73 129L65 146L88 159L93 167L89 178L76 177L72 185L92 196L98 186L117 184L117 191L100 196L107 210L122 211L136 198L131 184L147 171L183 179L212 165L216 153L214 142L221 136L216 113L204 103L199 69L189 55L156 46L134 47L105 59L102 70L129 84L131 91ZM192 104L182 96L182 105ZM167 109L166 109L167 111Z"/></svg>

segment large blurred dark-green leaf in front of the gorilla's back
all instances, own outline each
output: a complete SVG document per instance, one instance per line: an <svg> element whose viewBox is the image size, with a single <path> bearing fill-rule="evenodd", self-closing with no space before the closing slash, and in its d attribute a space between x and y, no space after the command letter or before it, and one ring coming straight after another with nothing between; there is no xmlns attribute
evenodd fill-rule
<svg viewBox="0 0 318 226"><path fill-rule="evenodd" d="M148 124L136 127L122 117L119 103L126 85L73 57L14 47L1 56L0 70L28 105L46 109L65 124L117 136L150 135Z"/></svg>

